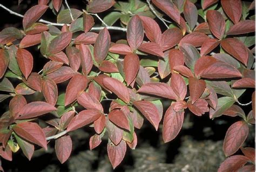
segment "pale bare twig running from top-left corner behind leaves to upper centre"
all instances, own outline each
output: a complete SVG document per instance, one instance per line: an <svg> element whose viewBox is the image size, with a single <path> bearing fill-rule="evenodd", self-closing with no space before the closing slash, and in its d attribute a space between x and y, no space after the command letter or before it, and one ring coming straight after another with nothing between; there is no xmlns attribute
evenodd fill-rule
<svg viewBox="0 0 256 172"><path fill-rule="evenodd" d="M23 15L17 13L17 12L14 12L8 8L6 8L6 6L0 4L0 7L3 8L4 10L8 11L9 13L11 13L12 15L15 15L15 16L18 16L18 17L24 17ZM49 25L54 25L54 26L63 26L64 24L63 23L53 23L53 22L49 22L47 20L44 20L44 19L39 19L39 22L42 22L42 23L45 23L45 24L49 24ZM66 24L66 25L70 25L70 24ZM104 27L92 27L91 30L102 30L104 29ZM120 30L120 31L124 31L126 32L127 29L126 28L123 28L123 27L117 27L117 26L107 26L106 29L108 30Z"/></svg>

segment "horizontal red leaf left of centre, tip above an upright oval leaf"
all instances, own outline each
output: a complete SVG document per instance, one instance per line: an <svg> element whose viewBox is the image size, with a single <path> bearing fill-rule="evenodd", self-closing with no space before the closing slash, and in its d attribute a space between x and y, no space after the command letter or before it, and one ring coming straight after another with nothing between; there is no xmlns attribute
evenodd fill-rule
<svg viewBox="0 0 256 172"><path fill-rule="evenodd" d="M57 71L54 71L47 76L53 79L56 84L58 84L60 82L64 82L70 79L71 77L73 77L73 75L75 75L75 73L76 72L73 71L71 67L62 66Z"/></svg>

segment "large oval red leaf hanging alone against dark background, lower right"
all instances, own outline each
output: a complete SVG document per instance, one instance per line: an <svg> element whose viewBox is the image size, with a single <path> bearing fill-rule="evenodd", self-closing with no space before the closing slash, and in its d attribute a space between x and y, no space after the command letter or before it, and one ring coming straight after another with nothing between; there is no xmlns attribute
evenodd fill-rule
<svg viewBox="0 0 256 172"><path fill-rule="evenodd" d="M248 132L249 127L244 121L235 122L228 128L223 143L223 150L226 156L237 152L247 138Z"/></svg>

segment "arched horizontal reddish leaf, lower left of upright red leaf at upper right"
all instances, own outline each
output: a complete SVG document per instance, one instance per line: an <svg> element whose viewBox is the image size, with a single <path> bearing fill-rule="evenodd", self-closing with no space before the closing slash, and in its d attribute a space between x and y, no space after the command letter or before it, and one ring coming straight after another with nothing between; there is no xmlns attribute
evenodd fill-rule
<svg viewBox="0 0 256 172"><path fill-rule="evenodd" d="M181 46L182 44L187 43L195 47L198 47L198 46L202 46L206 39L208 39L208 37L204 33L192 32L186 35L185 37L183 37L180 40L179 45Z"/></svg>

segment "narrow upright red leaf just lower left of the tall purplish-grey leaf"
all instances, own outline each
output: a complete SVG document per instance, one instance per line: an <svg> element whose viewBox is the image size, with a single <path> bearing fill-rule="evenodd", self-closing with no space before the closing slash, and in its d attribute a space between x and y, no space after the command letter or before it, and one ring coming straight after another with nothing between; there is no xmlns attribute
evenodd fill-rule
<svg viewBox="0 0 256 172"><path fill-rule="evenodd" d="M89 47L84 44L79 45L79 50L81 53L81 65L84 74L89 74L92 68L92 55Z"/></svg>

